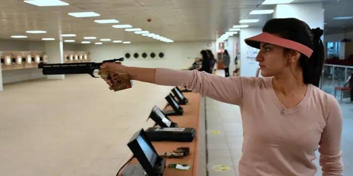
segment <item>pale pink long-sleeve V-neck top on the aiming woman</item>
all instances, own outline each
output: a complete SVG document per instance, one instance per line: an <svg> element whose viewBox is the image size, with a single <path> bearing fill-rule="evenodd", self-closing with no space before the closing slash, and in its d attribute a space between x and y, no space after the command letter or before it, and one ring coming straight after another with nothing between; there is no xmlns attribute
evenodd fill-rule
<svg viewBox="0 0 353 176"><path fill-rule="evenodd" d="M240 106L244 139L240 175L314 175L317 149L322 175L342 175L342 114L336 99L309 84L303 100L286 109L272 79L160 68L155 74L156 84L187 86Z"/></svg>

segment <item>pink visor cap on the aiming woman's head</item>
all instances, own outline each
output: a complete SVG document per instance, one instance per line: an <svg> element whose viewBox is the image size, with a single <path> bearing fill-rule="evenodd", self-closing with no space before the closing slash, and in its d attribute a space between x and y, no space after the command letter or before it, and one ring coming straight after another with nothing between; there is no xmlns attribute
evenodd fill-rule
<svg viewBox="0 0 353 176"><path fill-rule="evenodd" d="M249 45L250 47L253 47L253 48L257 48L257 49L260 49L260 42L269 43L269 44L278 45L278 46L281 46L284 48L293 49L293 50L296 50L296 51L304 54L308 58L310 58L311 54L313 53L312 49L310 49L309 47L307 47L303 44L300 44L298 42L294 42L294 41L291 41L288 39L284 39L281 37L277 37L275 35L272 35L272 34L266 33L266 32L261 33L257 36L245 39L245 43L247 45Z"/></svg>

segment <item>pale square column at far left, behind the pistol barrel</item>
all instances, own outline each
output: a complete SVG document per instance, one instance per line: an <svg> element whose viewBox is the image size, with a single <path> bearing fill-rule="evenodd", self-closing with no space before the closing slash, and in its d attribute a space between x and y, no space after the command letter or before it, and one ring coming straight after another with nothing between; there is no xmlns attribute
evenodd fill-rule
<svg viewBox="0 0 353 176"><path fill-rule="evenodd" d="M48 63L64 63L62 41L46 41L45 53ZM65 75L48 75L48 79L64 79Z"/></svg>

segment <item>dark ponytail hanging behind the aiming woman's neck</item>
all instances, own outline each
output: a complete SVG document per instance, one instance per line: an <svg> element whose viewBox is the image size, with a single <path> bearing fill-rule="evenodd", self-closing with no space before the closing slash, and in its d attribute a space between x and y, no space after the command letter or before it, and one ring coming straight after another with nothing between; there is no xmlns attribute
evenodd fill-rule
<svg viewBox="0 0 353 176"><path fill-rule="evenodd" d="M312 29L313 53L310 58L302 55L300 66L303 68L303 80L306 84L319 86L323 64L325 61L325 51L320 37L323 31L320 28Z"/></svg>

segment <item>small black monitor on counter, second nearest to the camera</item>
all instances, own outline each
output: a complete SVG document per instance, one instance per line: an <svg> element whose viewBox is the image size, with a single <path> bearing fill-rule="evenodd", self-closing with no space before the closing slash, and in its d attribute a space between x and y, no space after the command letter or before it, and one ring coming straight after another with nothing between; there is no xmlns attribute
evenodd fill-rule
<svg viewBox="0 0 353 176"><path fill-rule="evenodd" d="M149 117L162 128L177 127L177 124L172 122L158 106L153 107Z"/></svg>

